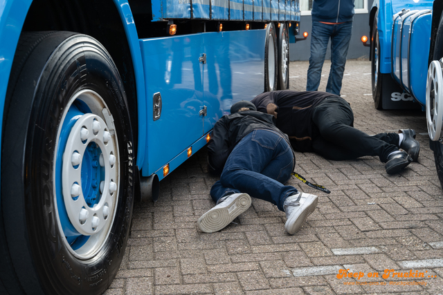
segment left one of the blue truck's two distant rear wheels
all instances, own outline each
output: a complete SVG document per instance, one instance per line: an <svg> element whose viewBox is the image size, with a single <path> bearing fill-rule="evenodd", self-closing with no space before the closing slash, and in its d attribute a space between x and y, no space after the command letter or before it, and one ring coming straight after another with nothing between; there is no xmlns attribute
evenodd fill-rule
<svg viewBox="0 0 443 295"><path fill-rule="evenodd" d="M275 26L268 23L264 40L264 92L275 91L277 88L278 73L277 35Z"/></svg>

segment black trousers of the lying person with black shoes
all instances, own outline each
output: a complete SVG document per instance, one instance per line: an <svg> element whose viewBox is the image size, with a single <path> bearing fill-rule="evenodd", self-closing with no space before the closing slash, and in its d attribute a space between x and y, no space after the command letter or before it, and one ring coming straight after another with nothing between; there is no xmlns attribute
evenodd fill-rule
<svg viewBox="0 0 443 295"><path fill-rule="evenodd" d="M327 98L318 105L312 116L314 124L323 137L323 144L314 144L314 151L329 154L327 142L343 148L333 160L348 160L363 155L378 155L381 162L388 160L388 155L398 151L395 144L389 144L379 137L370 136L352 127L354 115L349 104L342 98ZM352 157L352 158L350 158Z"/></svg>

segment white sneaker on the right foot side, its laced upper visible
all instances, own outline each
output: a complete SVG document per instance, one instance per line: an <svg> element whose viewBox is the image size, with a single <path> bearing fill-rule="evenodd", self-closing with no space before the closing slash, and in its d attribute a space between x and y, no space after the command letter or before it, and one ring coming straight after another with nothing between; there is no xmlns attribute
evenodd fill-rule
<svg viewBox="0 0 443 295"><path fill-rule="evenodd" d="M300 197L300 200L298 200L298 197ZM287 217L284 229L286 229L288 234L296 234L305 223L307 217L314 212L317 203L318 196L310 195L309 193L297 193L284 200L283 208Z"/></svg>

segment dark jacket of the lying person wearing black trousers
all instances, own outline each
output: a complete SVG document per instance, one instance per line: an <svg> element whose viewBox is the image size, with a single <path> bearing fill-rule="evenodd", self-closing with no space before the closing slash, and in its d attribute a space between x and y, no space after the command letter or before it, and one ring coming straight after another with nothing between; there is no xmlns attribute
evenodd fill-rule
<svg viewBox="0 0 443 295"><path fill-rule="evenodd" d="M289 136L294 150L305 152L312 150L312 140L319 131L312 122L314 108L325 98L336 97L321 91L273 91L257 95L252 99L257 111L266 113L268 104L278 106L277 127Z"/></svg>

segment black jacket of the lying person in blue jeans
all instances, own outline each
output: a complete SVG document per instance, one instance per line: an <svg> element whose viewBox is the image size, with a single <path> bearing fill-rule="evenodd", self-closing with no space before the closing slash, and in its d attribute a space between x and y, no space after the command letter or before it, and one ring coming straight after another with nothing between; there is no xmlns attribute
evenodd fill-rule
<svg viewBox="0 0 443 295"><path fill-rule="evenodd" d="M256 129L269 129L280 133L289 144L286 134L275 126L273 115L258 111L242 111L224 115L215 123L213 135L208 143L208 171L221 174L230 152L248 133ZM294 156L294 165L296 163Z"/></svg>

